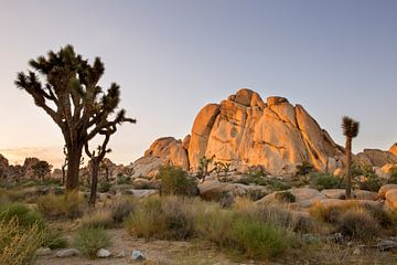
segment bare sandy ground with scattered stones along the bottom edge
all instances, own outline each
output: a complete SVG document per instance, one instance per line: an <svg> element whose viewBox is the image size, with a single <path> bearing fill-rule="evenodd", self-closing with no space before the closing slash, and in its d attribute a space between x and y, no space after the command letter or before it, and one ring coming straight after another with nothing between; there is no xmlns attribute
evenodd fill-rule
<svg viewBox="0 0 397 265"><path fill-rule="evenodd" d="M112 246L108 250L118 254L125 251L126 257L88 259L83 256L55 257L56 251L51 255L42 256L35 264L40 265L224 265L224 264L269 264L269 265L397 265L397 252L378 252L373 248L363 248L360 255L354 255L354 247L341 245L326 245L319 250L291 250L291 252L277 259L277 262L236 261L236 257L222 253L216 246L205 242L184 241L148 241L128 235L124 230L109 230ZM132 250L139 250L146 256L146 261L131 261Z"/></svg>

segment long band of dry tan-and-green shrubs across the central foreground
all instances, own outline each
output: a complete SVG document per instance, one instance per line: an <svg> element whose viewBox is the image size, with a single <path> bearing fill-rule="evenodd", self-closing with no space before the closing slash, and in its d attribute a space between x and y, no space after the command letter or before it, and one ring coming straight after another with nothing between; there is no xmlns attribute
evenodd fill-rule
<svg viewBox="0 0 397 265"><path fill-rule="evenodd" d="M281 254L291 242L286 229L255 214L189 198L151 198L125 221L126 230L146 239L198 237L249 258Z"/></svg>

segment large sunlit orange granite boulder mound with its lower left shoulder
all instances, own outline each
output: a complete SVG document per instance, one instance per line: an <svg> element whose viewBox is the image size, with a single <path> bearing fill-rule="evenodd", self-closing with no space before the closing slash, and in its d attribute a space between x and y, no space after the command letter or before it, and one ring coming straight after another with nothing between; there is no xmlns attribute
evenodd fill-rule
<svg viewBox="0 0 397 265"><path fill-rule="evenodd" d="M333 171L342 166L342 151L302 106L283 97L264 103L257 93L244 88L221 104L203 107L183 141L155 140L133 168L144 174L153 171L153 163L171 163L196 171L205 156L238 171L262 166L272 174L286 174L303 161Z"/></svg>

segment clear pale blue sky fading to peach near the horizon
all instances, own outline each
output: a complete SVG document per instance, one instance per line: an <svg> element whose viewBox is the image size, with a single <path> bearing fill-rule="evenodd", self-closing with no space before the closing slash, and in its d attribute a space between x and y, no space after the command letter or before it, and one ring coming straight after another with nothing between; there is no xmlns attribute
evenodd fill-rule
<svg viewBox="0 0 397 265"><path fill-rule="evenodd" d="M397 141L397 1L0 0L0 152L62 160L60 129L13 85L28 61L73 44L105 62L138 119L114 136L129 163L161 136L183 138L207 103L240 87L302 104L343 144L341 117L361 121L354 150Z"/></svg>

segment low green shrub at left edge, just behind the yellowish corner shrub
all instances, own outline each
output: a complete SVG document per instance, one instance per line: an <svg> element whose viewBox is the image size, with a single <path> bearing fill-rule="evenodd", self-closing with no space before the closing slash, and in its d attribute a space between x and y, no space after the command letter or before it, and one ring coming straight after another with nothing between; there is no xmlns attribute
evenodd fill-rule
<svg viewBox="0 0 397 265"><path fill-rule="evenodd" d="M18 221L18 225L29 227L33 224L44 230L45 222L42 215L21 203L4 203L0 206L0 221L9 222L12 219Z"/></svg>

